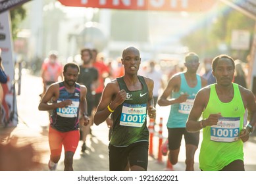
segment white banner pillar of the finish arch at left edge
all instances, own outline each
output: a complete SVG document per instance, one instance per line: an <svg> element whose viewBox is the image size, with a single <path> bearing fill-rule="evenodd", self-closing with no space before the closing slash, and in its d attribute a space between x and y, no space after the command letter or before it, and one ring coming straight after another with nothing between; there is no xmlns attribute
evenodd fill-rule
<svg viewBox="0 0 256 184"><path fill-rule="evenodd" d="M0 124L7 127L18 124L16 93L14 85L13 37L11 35L11 18L9 11L0 13L0 48L3 67L8 81L3 87Z"/></svg>

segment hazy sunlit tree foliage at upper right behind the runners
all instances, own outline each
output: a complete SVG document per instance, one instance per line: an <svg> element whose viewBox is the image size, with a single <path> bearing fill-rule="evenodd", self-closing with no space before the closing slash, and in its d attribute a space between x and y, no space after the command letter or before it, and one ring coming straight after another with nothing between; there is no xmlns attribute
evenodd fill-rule
<svg viewBox="0 0 256 184"><path fill-rule="evenodd" d="M253 37L255 20L222 3L218 3L213 11L209 12L197 30L182 38L182 43L201 56L216 56L224 52L246 61L250 48L247 51L230 48L232 30L248 30Z"/></svg>

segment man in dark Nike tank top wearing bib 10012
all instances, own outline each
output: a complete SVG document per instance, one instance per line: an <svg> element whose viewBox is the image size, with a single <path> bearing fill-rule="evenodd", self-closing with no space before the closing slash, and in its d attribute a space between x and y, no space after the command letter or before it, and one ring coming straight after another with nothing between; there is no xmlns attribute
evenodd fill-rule
<svg viewBox="0 0 256 184"><path fill-rule="evenodd" d="M138 76L140 51L127 47L122 53L124 76L107 83L94 116L96 125L112 113L109 170L147 170L149 131L147 114L155 118L153 80Z"/></svg>

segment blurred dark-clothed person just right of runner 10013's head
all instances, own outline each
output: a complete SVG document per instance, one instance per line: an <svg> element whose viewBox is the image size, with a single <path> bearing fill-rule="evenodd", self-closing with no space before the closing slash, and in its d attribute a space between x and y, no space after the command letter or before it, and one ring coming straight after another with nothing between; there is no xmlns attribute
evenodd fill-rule
<svg viewBox="0 0 256 184"><path fill-rule="evenodd" d="M235 60L235 75L234 75L234 83L242 85L243 87L247 88L245 72L243 71L242 61Z"/></svg>

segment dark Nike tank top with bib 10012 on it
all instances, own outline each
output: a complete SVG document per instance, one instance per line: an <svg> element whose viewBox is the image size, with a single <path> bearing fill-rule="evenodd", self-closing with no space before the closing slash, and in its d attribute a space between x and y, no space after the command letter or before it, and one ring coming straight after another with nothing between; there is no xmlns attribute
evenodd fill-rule
<svg viewBox="0 0 256 184"><path fill-rule="evenodd" d="M111 145L116 147L127 147L132 143L149 140L147 129L147 101L149 91L142 76L138 76L142 89L129 91L124 78L117 78L120 90L127 93L126 100L113 112L113 133Z"/></svg>

